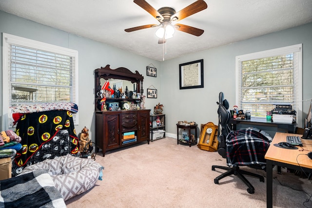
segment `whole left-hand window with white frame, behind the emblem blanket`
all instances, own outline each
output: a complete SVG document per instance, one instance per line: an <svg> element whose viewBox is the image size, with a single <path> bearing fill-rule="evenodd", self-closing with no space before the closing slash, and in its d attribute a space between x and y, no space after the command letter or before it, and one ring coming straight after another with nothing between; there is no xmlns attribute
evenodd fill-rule
<svg viewBox="0 0 312 208"><path fill-rule="evenodd" d="M3 114L19 104L78 104L76 83L78 51L3 34Z"/></svg>

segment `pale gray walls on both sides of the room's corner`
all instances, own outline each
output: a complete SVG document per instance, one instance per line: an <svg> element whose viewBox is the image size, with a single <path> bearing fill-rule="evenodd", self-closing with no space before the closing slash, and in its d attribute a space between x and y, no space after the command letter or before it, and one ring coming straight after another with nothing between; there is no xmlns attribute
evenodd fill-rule
<svg viewBox="0 0 312 208"><path fill-rule="evenodd" d="M166 135L176 137L176 122L179 120L195 121L198 124L211 121L217 124L216 101L219 92L224 93L230 107L235 104L235 56L303 43L303 100L308 99L303 102L303 117L306 117L310 107L312 23L163 62L68 34L2 11L0 11L0 32L78 50L79 125L76 126L76 130L80 132L84 126L88 127L93 140L94 70L106 64L110 64L113 69L126 67L131 71L137 70L144 76L144 93L151 85L157 89L157 99L146 98L145 106L147 109L153 109L158 102L163 104L168 132ZM2 57L2 50L0 56ZM179 64L198 59L204 59L204 88L179 90ZM2 60L0 64L3 72ZM146 66L150 64L157 68L157 77L146 76ZM0 82L2 91L2 73ZM2 103L6 98L1 96L0 99ZM0 111L1 117L7 116Z"/></svg>

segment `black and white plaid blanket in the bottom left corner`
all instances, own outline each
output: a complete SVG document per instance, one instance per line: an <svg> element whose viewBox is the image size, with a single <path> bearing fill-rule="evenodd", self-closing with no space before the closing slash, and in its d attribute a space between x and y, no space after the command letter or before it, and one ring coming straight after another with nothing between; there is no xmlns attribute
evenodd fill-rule
<svg viewBox="0 0 312 208"><path fill-rule="evenodd" d="M0 181L1 208L66 208L47 170Z"/></svg>

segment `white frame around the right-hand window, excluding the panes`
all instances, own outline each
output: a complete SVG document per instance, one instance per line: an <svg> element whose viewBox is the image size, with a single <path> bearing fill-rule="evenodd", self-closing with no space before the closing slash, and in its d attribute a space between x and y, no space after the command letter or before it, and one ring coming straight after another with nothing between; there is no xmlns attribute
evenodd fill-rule
<svg viewBox="0 0 312 208"><path fill-rule="evenodd" d="M296 85L298 89L297 91L297 97L296 97L296 123L298 127L303 126L302 123L302 43L281 47L281 48L275 48L271 50L266 51L260 51L256 53L251 54L245 54L235 57L235 103L240 105L241 97L240 96L240 77L241 77L241 62L247 61L247 60L253 60L258 58L266 58L266 57L274 57L279 55L284 55L287 53L294 53L296 52L296 59L297 59L297 76L295 76L297 79L295 80ZM264 118L265 119L265 118Z"/></svg>

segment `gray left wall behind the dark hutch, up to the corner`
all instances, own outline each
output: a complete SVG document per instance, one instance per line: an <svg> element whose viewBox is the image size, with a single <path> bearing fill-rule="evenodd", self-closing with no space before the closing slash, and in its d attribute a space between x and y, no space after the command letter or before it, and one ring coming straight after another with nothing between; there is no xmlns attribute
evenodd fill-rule
<svg viewBox="0 0 312 208"><path fill-rule="evenodd" d="M157 68L157 73L160 73L160 62L150 58L138 56L136 54L112 47L107 44L99 43L97 41L78 37L48 27L27 19L22 19L17 16L4 13L0 11L0 33L1 33L1 48L2 33L8 33L23 38L29 38L45 43L50 43L70 49L77 50L79 53L79 100L78 100L78 114L79 125L75 126L77 133L81 132L84 126L90 130L90 138L93 138L92 133L95 132L95 118L94 118L94 70L105 67L107 64L111 65L112 69L118 67L125 67L135 72L136 70L144 76L143 88L146 93L147 87L154 85L156 89L160 89L160 76L151 77L146 76L146 66L151 63ZM0 51L2 57L2 50ZM2 58L0 59L1 77L0 77L0 92L2 92ZM2 113L2 102L7 98L0 96L0 122L2 117L7 117L7 114ZM147 109L154 109L154 106L160 102L160 98L146 99L145 107ZM2 127L2 123L0 123ZM2 128L1 128L2 129ZM2 131L2 130L1 130Z"/></svg>

